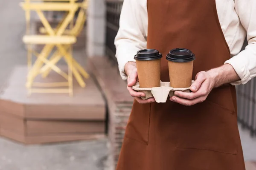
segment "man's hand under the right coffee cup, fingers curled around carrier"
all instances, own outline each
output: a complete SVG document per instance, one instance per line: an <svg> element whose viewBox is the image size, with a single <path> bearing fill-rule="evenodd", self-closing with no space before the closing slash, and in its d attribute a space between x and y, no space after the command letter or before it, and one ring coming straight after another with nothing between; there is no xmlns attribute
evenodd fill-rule
<svg viewBox="0 0 256 170"><path fill-rule="evenodd" d="M176 91L175 96L171 97L172 102L181 105L191 106L204 102L215 86L215 78L209 72L201 71L195 77L195 82L191 85L191 93Z"/></svg>

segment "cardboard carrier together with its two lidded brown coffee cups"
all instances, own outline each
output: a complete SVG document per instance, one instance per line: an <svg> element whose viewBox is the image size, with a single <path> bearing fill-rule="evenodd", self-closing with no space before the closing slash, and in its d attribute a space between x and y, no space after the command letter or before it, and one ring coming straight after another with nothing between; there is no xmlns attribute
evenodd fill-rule
<svg viewBox="0 0 256 170"><path fill-rule="evenodd" d="M174 96L175 91L191 92L195 55L184 48L175 48L170 51L166 56L170 82L160 81L161 57L162 55L153 49L138 51L134 56L139 82L133 86L133 89L145 93L145 97L142 97L144 100L154 97L157 103L165 103L168 96Z"/></svg>

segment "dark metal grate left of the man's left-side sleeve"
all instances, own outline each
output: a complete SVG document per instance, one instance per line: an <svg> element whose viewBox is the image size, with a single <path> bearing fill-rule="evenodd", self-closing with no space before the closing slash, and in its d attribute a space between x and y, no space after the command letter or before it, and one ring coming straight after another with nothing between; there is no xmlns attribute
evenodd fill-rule
<svg viewBox="0 0 256 170"><path fill-rule="evenodd" d="M119 19L122 9L123 1L113 1L107 0L107 24L106 24L106 53L108 57L113 61L114 64L117 64L116 61L116 47L114 45L114 40L119 29Z"/></svg>

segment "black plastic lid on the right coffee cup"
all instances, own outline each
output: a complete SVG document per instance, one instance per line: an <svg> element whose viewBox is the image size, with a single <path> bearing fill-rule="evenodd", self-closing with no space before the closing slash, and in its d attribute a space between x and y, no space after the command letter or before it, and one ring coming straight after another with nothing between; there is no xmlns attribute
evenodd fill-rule
<svg viewBox="0 0 256 170"><path fill-rule="evenodd" d="M190 62L195 60L195 54L185 48L175 48L167 54L166 59L172 62Z"/></svg>

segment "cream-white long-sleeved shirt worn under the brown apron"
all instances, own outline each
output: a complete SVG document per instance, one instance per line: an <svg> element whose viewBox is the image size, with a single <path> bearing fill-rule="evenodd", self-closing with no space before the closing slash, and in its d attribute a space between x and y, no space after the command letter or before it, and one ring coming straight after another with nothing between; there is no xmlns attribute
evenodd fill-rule
<svg viewBox="0 0 256 170"><path fill-rule="evenodd" d="M241 78L232 84L245 84L256 77L256 0L216 0L216 7L231 53L231 58L225 63L232 65ZM241 51L246 33L249 45ZM115 39L122 79L127 79L125 64L135 62L137 51L147 47L147 35L147 0L124 0L120 28Z"/></svg>

